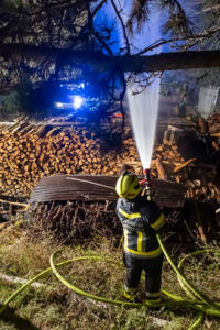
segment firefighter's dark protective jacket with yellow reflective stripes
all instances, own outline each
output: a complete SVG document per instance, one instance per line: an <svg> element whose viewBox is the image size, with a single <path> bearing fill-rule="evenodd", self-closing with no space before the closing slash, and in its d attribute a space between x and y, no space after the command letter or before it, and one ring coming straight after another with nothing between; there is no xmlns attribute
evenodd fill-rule
<svg viewBox="0 0 220 330"><path fill-rule="evenodd" d="M125 254L148 258L162 253L156 231L165 224L165 216L154 201L146 200L145 196L119 198L117 213L123 227Z"/></svg>

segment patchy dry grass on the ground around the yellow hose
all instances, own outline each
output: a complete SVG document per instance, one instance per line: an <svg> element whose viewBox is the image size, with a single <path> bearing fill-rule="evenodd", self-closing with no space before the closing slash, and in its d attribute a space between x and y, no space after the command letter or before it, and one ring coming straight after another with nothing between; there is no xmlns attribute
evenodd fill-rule
<svg viewBox="0 0 220 330"><path fill-rule="evenodd" d="M98 237L87 248L66 246L45 235L30 240L22 228L9 228L0 235L0 272L31 278L50 266L50 255L62 249L56 262L81 255L101 255L122 262L121 246ZM183 267L184 274L215 300L220 300L219 257L217 255L190 257ZM123 299L124 268L103 261L84 261L62 267L61 273L70 283L98 296ZM1 330L184 330L196 320L197 314L188 309L124 308L106 305L77 296L56 277L48 274L41 279L45 288L30 288L21 293L0 319ZM20 285L0 280L0 302ZM163 288L184 295L175 273L167 262L163 267ZM144 284L140 286L143 295ZM160 326L160 322L166 324ZM206 317L199 329L220 329L220 320Z"/></svg>

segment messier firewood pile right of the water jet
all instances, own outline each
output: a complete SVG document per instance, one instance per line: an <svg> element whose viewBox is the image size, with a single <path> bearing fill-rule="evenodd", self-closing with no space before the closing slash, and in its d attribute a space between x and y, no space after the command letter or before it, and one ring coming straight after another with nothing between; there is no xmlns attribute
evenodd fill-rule
<svg viewBox="0 0 220 330"><path fill-rule="evenodd" d="M185 160L175 141L163 141L155 146L152 175L185 184L186 198L198 201L220 202L218 164L199 163L197 158Z"/></svg>

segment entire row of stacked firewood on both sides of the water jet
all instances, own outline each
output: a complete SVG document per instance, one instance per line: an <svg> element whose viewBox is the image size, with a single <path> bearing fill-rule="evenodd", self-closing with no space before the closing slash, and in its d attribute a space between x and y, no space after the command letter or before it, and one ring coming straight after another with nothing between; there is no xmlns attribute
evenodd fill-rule
<svg viewBox="0 0 220 330"><path fill-rule="evenodd" d="M142 174L132 138L124 139L119 151L105 148L100 136L80 127L37 125L23 121L0 128L2 196L29 197L44 176L118 175L124 163L132 165L138 175ZM217 166L198 164L194 158L186 162L175 140L155 145L151 168L153 177L184 183L187 198L220 202Z"/></svg>

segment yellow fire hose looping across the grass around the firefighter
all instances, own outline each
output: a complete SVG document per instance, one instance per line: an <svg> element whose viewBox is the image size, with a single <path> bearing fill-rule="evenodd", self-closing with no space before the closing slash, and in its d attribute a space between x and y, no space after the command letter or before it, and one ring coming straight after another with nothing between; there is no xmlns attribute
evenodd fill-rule
<svg viewBox="0 0 220 330"><path fill-rule="evenodd" d="M157 305L154 305L154 307L185 307L185 308L190 308L194 310L199 311L199 317L198 319L195 321L195 323L193 326L190 326L189 330L196 329L198 328L198 326L202 322L204 316L205 315L209 315L209 316L215 316L220 318L220 304L216 302L213 300L211 300L209 297L207 297L205 294L200 293L197 288L195 288L189 280L187 280L187 278L185 278L185 276L180 273L180 267L183 266L183 263L186 261L186 258L190 255L199 255L202 253L207 253L207 252L216 252L218 250L216 249L207 249L207 250L199 250L196 252L193 252L190 254L187 254L186 256L184 256L180 262L178 263L178 266L175 266L175 264L173 263L170 256L168 255L162 240L161 237L157 234L157 240L160 242L160 245L167 258L167 261L169 262L170 266L173 267L173 270L176 272L177 274L177 278L183 287L183 289L187 293L187 295L190 296L190 299L186 299L183 298L180 296L177 296L175 294L170 294L166 290L162 290L163 294L165 294L168 299L165 299L162 302L158 302ZM81 295L84 297L88 297L90 299L94 300L98 300L98 301L102 301L106 304L114 304L114 305L119 305L119 306L125 306L125 307L133 307L133 308L140 308L143 306L146 307L152 307L152 305L150 302L129 302L129 301L122 301L122 300L114 300L114 299L108 299L108 298L103 298L103 297L99 297L92 294L89 294L87 292L84 292L82 289L76 287L75 285L70 284L67 279L65 279L59 272L57 271L57 268L69 264L69 263L74 263L76 261L85 261L85 260L91 260L91 261L108 261L111 262L113 264L119 264L120 266L122 265L121 263L116 263L114 261L110 260L110 258L106 258L102 256L80 256L80 257L74 257L72 260L67 260L64 261L62 263L58 264L54 264L54 256L58 253L59 251L55 251L50 258L50 263L51 263L51 267L46 268L45 271L41 272L40 274L37 274L36 276L34 276L33 278L31 278L30 280L28 280L24 285L22 285L21 287L19 287L2 305L2 307L0 308L0 316L1 314L4 311L4 309L7 308L7 306L21 293L23 292L25 288L28 288L33 282L36 282L37 279L40 279L41 277L44 277L45 275L47 275L50 272L53 272L55 274L55 276L68 288L70 288L73 292L75 292L78 295ZM195 297L191 299L191 297Z"/></svg>

